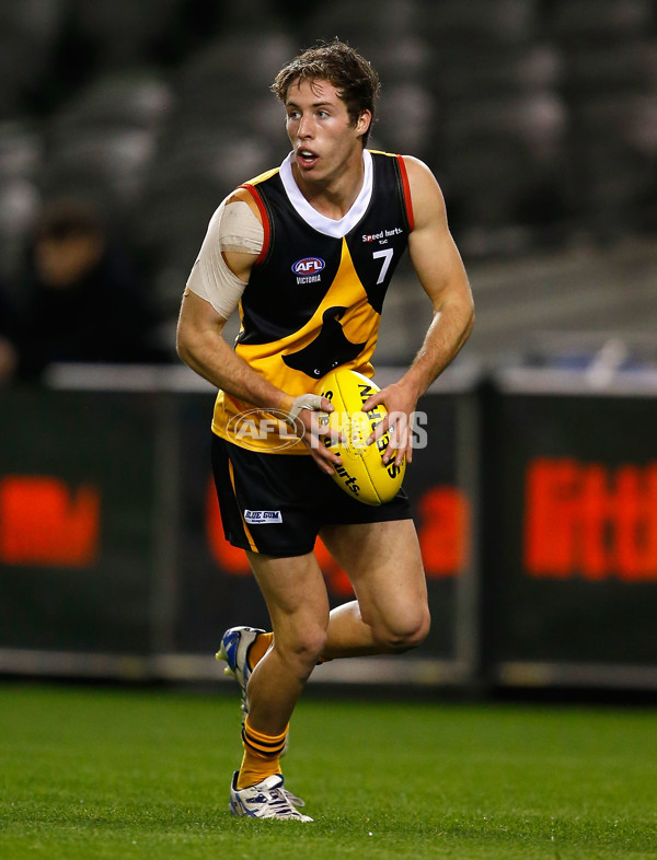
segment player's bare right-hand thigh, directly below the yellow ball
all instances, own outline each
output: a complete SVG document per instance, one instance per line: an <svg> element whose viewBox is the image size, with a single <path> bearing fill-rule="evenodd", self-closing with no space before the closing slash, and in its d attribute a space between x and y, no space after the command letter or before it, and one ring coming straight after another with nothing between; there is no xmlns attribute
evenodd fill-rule
<svg viewBox="0 0 657 860"><path fill-rule="evenodd" d="M412 520L330 525L321 536L351 581L366 623L425 623L427 585Z"/></svg>

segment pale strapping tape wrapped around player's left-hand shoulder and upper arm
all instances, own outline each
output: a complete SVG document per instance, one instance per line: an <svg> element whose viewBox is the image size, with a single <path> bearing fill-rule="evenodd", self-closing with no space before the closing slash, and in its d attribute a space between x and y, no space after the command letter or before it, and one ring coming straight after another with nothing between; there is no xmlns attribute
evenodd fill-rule
<svg viewBox="0 0 657 860"><path fill-rule="evenodd" d="M221 252L235 251L257 256L263 242L263 225L249 204L242 200L227 204L223 200L210 219L187 289L209 302L220 316L228 319L246 284L230 270Z"/></svg>

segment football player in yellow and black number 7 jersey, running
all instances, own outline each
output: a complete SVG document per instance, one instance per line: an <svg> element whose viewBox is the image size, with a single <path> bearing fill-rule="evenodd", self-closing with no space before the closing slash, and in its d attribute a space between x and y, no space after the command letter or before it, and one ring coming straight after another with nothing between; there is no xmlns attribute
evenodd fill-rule
<svg viewBox="0 0 657 860"><path fill-rule="evenodd" d="M272 89L291 151L215 212L184 292L177 348L219 388L212 464L221 516L227 538L246 550L272 620L272 631L231 628L218 654L240 682L245 714L230 807L311 821L284 788L279 762L311 672L337 658L401 653L429 629L407 497L402 489L371 507L337 487L331 474L341 460L316 422L316 410L332 407L313 392L335 368L373 375L383 299L406 248L428 297L426 336L365 410L382 403L397 423L408 421L468 338L473 300L430 170L367 149L379 91L370 63L335 40L291 60ZM238 309L233 349L222 333ZM377 435L395 430L389 421ZM384 456L399 464L404 455L412 457L411 438ZM318 535L356 595L332 612L313 555Z"/></svg>

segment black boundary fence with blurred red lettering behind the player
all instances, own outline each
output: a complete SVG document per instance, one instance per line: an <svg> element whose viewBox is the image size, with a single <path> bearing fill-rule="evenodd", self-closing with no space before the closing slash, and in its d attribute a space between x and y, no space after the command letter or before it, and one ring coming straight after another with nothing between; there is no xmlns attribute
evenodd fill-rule
<svg viewBox="0 0 657 860"><path fill-rule="evenodd" d="M221 679L222 630L267 625L222 536L214 394L184 368L83 365L0 392L0 673ZM657 688L655 374L457 363L419 409L405 485L431 632L314 683Z"/></svg>

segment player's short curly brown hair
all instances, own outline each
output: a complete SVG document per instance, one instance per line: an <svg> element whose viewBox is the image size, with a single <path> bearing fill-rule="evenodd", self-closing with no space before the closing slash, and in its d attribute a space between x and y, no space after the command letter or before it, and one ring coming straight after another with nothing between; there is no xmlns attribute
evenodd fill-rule
<svg viewBox="0 0 657 860"><path fill-rule="evenodd" d="M362 146L374 123L374 104L381 84L379 75L354 48L341 42L321 42L316 47L307 48L278 72L272 92L285 104L290 84L295 81L328 81L338 92L347 107L349 118L356 125L364 111L369 111L372 119L362 136Z"/></svg>

